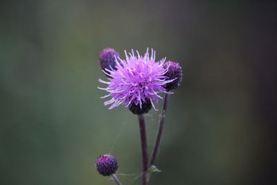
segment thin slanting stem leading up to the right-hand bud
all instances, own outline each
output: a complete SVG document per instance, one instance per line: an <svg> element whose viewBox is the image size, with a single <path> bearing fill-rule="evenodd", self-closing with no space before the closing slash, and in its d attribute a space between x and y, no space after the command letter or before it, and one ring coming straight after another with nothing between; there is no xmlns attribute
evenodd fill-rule
<svg viewBox="0 0 277 185"><path fill-rule="evenodd" d="M164 123L165 118L166 118L166 109L168 107L168 96L169 96L169 94L166 94L165 100L163 102L163 110L161 112L161 118L160 118L160 121L159 121L158 132L157 132L157 135L156 135L154 148L152 150L152 155L151 155L151 158L150 158L150 166L154 165L155 159L157 157L157 152L159 150L159 144L160 144L160 141L161 141L161 134L163 132L163 123Z"/></svg>

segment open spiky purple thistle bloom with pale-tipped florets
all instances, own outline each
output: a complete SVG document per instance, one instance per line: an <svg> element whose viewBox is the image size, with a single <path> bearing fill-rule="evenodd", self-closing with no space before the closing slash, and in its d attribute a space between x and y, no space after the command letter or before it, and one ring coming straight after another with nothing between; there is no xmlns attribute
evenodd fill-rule
<svg viewBox="0 0 277 185"><path fill-rule="evenodd" d="M159 62L155 62L155 51L150 53L148 49L142 56L136 51L137 55L125 51L125 60L116 58L116 67L114 70L105 69L102 70L108 78L108 82L99 79L99 82L107 84L107 88L98 87L107 91L109 94L102 96L101 98L111 97L111 100L105 101L104 105L111 105L109 109L113 109L120 104L125 107L132 105L139 106L141 109L143 103L150 101L152 107L154 102L158 103L159 93L168 93L165 89L165 85L173 80L167 80L165 74L168 72L168 68L163 67L163 63L166 58L163 58ZM155 110L157 110L154 107ZM144 113L144 112L143 112Z"/></svg>

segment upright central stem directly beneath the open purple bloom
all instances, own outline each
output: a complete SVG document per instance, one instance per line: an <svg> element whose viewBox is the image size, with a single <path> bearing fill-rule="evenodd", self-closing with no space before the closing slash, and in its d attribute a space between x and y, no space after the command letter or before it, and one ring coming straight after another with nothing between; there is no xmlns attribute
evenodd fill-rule
<svg viewBox="0 0 277 185"><path fill-rule="evenodd" d="M148 148L146 139L145 120L143 114L139 114L139 130L141 132L141 156L142 156L142 185L147 185L148 173Z"/></svg>

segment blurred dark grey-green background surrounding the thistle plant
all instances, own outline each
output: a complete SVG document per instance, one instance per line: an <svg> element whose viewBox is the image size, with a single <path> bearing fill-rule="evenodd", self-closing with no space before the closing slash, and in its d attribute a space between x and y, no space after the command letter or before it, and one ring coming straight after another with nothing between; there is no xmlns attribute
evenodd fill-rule
<svg viewBox="0 0 277 185"><path fill-rule="evenodd" d="M107 152L123 184L139 184L137 118L108 110L97 89L107 46L153 47L184 69L151 184L276 184L276 9L273 1L1 1L0 184L112 184L94 167ZM158 116L146 116L149 147Z"/></svg>

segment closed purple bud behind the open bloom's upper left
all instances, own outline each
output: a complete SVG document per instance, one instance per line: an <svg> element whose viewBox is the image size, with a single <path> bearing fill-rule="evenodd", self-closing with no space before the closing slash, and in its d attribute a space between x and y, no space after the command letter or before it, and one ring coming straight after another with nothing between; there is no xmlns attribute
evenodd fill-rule
<svg viewBox="0 0 277 185"><path fill-rule="evenodd" d="M119 54L114 49L103 49L99 55L101 69L105 70L105 72L109 74L109 71L106 69L110 69L112 71L114 67L116 67L116 58L118 56Z"/></svg>

